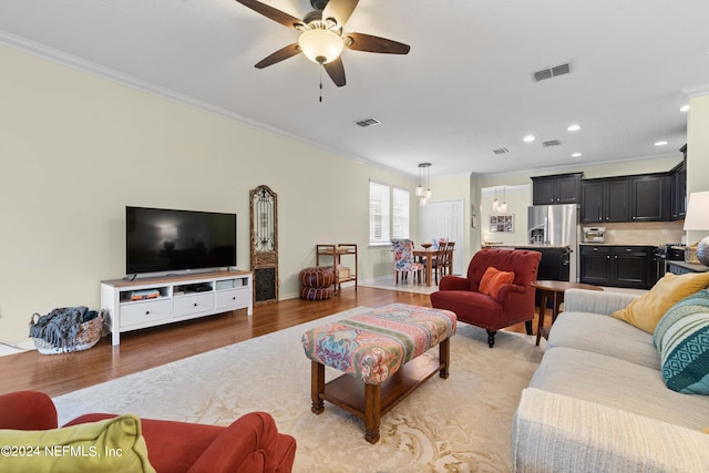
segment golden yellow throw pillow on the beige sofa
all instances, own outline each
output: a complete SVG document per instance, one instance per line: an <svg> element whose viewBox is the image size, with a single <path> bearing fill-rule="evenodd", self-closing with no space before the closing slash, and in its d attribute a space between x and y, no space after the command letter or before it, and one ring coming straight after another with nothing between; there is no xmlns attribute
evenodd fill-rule
<svg viewBox="0 0 709 473"><path fill-rule="evenodd" d="M612 316L648 333L654 333L657 322L670 307L707 286L709 286L709 273L680 276L668 273L649 291L630 302L625 309L613 312Z"/></svg>

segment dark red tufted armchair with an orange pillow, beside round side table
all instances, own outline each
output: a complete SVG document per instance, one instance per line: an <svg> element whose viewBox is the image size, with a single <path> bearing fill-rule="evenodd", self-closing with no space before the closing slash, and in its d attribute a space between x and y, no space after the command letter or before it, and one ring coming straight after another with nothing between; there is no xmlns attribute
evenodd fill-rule
<svg viewBox="0 0 709 473"><path fill-rule="evenodd" d="M431 295L431 305L448 309L458 320L487 330L487 345L495 343L497 330L525 322L532 335L534 319L534 287L542 254L530 250L482 249L467 266L467 277L444 276L439 291ZM496 296L480 291L481 279L493 267L514 273L510 284L502 284Z"/></svg>

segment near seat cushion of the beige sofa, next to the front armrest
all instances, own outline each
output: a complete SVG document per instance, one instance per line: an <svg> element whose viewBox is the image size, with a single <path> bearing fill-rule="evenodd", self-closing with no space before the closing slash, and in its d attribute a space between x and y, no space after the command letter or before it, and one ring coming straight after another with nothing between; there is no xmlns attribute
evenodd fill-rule
<svg viewBox="0 0 709 473"><path fill-rule="evenodd" d="M705 429L709 420L709 399L706 395L680 394L665 387L658 370L575 348L547 349L530 388L621 409L695 431Z"/></svg>

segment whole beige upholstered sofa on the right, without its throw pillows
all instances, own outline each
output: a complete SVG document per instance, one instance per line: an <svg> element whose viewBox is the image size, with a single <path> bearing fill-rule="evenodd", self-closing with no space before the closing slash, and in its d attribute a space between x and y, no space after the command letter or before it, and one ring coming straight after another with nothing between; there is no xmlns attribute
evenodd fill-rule
<svg viewBox="0 0 709 473"><path fill-rule="evenodd" d="M709 395L668 389L653 335L609 317L637 297L566 291L514 417L515 472L709 472Z"/></svg>

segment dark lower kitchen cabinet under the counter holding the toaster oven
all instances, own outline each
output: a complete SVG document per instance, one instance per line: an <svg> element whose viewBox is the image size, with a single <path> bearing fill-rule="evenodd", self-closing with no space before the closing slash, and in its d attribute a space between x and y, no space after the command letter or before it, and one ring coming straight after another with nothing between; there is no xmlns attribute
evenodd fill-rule
<svg viewBox="0 0 709 473"><path fill-rule="evenodd" d="M648 289L655 284L655 247L582 245L580 281L596 286Z"/></svg>

